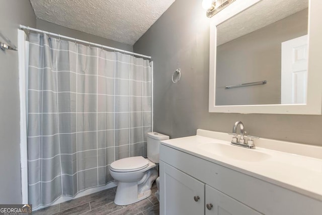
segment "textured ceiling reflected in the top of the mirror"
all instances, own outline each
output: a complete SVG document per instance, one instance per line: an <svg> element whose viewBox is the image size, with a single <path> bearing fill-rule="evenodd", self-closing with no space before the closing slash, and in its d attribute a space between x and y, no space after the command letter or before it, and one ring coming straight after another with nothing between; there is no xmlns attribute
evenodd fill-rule
<svg viewBox="0 0 322 215"><path fill-rule="evenodd" d="M256 31L307 7L308 0L263 0L218 25L217 45Z"/></svg>

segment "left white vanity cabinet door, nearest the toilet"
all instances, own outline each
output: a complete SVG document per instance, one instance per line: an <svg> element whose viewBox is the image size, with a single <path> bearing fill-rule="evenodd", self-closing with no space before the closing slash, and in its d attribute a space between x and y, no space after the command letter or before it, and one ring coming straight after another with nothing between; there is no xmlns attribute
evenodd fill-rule
<svg viewBox="0 0 322 215"><path fill-rule="evenodd" d="M163 162L160 162L161 190L161 214L205 214L205 184Z"/></svg>

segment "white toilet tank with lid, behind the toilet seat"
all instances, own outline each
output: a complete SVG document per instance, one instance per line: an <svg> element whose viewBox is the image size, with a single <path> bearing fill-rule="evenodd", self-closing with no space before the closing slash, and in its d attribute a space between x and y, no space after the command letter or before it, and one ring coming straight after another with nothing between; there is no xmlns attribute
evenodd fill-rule
<svg viewBox="0 0 322 215"><path fill-rule="evenodd" d="M169 136L157 132L147 133L147 158L153 163L159 163L159 144L160 140L165 139L169 139Z"/></svg>

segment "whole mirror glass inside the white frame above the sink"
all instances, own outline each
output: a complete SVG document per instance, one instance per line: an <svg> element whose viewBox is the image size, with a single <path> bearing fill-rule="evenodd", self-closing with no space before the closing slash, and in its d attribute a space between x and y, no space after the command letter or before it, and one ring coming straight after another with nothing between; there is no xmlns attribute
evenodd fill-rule
<svg viewBox="0 0 322 215"><path fill-rule="evenodd" d="M306 103L307 8L262 0L217 26L216 106Z"/></svg>

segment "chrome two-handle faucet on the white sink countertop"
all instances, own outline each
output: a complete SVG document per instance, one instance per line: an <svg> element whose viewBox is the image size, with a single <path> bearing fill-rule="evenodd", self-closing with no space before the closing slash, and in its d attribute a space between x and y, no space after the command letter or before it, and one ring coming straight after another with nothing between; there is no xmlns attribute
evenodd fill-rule
<svg viewBox="0 0 322 215"><path fill-rule="evenodd" d="M240 127L240 138L238 141L238 137L237 137L237 128L238 125ZM255 145L254 145L254 140L252 138L259 138L258 136L251 136L251 135L247 135L246 137L249 137L250 139L246 142L245 141L245 137L244 134L246 133L246 131L244 131L244 124L241 121L236 121L235 124L233 125L232 128L232 133L228 133L233 135L232 139L231 139L231 145L233 146L238 146L238 147L244 147L244 148L249 148L249 149L255 149Z"/></svg>

